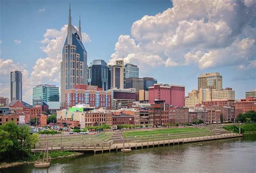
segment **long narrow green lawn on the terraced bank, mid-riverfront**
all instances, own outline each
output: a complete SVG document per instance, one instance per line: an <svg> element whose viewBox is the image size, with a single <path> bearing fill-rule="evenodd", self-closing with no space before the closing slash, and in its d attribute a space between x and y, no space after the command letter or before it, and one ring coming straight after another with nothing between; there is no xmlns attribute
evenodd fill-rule
<svg viewBox="0 0 256 173"><path fill-rule="evenodd" d="M210 133L208 129L200 128L167 128L167 129L153 129L153 130L136 130L126 131L125 137L135 136L157 136L157 135L181 135L181 134L199 134L199 133Z"/></svg>

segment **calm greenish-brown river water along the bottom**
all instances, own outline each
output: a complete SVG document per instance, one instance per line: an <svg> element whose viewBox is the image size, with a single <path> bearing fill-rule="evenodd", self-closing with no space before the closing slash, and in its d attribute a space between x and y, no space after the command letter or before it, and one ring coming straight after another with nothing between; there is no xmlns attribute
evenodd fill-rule
<svg viewBox="0 0 256 173"><path fill-rule="evenodd" d="M48 169L26 164L0 172L256 172L256 134L131 153L84 154L51 161Z"/></svg>

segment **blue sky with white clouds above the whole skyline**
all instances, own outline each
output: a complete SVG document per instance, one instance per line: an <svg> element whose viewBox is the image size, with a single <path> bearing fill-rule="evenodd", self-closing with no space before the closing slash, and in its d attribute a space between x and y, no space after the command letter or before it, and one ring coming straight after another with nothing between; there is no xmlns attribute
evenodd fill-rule
<svg viewBox="0 0 256 173"><path fill-rule="evenodd" d="M208 72L220 72L223 87L232 87L236 99L256 88L254 2L2 0L0 96L10 95L11 70L23 71L23 98L29 103L33 86L59 86L70 2L72 24L78 25L80 15L88 36L88 65L93 59L113 63L124 47L125 62L137 64L140 77L184 85L186 94Z"/></svg>

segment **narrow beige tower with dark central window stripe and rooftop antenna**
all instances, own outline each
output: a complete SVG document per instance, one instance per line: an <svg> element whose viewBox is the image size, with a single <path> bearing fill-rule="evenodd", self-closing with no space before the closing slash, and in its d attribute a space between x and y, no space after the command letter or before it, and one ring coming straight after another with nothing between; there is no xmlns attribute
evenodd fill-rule
<svg viewBox="0 0 256 173"><path fill-rule="evenodd" d="M109 66L109 68L110 88L124 89L124 61L116 60L116 65Z"/></svg>

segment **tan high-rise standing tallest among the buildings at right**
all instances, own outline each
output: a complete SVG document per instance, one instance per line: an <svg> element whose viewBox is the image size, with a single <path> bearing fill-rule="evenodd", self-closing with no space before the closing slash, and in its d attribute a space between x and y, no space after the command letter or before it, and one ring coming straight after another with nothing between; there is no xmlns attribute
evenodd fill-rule
<svg viewBox="0 0 256 173"><path fill-rule="evenodd" d="M220 73L205 73L198 77L198 90L212 89L212 91L221 90L222 88L222 75Z"/></svg>

